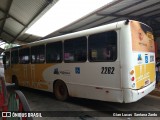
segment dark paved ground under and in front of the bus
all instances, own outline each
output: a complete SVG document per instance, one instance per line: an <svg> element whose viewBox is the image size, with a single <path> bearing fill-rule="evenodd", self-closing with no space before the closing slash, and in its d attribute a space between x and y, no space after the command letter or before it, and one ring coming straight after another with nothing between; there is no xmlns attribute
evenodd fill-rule
<svg viewBox="0 0 160 120"><path fill-rule="evenodd" d="M47 118L34 118L34 120L160 120L158 117L113 117L124 111L159 111L160 97L147 95L138 102L121 104L102 102L96 100L71 98L68 101L57 101L51 93L22 90L30 104L32 111L48 111ZM59 112L60 111L60 112ZM75 112L76 111L76 112ZM68 112L68 113L67 113ZM68 117L66 117L68 115Z"/></svg>

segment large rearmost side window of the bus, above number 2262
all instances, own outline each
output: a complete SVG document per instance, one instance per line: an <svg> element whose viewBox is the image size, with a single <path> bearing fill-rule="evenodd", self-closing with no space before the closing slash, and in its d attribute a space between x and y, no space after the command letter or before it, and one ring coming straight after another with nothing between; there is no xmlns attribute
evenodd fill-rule
<svg viewBox="0 0 160 120"><path fill-rule="evenodd" d="M117 33L109 31L89 36L90 62L107 62L117 59Z"/></svg>

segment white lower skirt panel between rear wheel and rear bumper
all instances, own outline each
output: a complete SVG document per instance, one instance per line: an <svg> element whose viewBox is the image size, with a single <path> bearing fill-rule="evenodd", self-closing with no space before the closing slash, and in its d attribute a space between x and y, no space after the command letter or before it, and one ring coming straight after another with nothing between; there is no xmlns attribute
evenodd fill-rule
<svg viewBox="0 0 160 120"><path fill-rule="evenodd" d="M101 101L123 102L121 89L101 88L87 85L67 84L69 95L72 97L87 98Z"/></svg>

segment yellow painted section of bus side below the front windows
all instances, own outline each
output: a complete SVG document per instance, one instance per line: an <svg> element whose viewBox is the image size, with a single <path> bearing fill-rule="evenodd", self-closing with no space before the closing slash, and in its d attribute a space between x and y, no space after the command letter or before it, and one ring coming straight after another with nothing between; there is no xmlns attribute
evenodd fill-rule
<svg viewBox="0 0 160 120"><path fill-rule="evenodd" d="M5 71L7 81L12 82L12 76L18 80L18 85L48 91L49 81L45 81L43 71L53 64L13 64Z"/></svg>

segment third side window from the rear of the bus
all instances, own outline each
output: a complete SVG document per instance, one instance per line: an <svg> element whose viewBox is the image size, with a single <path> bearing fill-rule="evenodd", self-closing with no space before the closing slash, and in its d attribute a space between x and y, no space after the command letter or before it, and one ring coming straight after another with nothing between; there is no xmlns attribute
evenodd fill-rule
<svg viewBox="0 0 160 120"><path fill-rule="evenodd" d="M46 45L46 63L62 62L62 42Z"/></svg>

